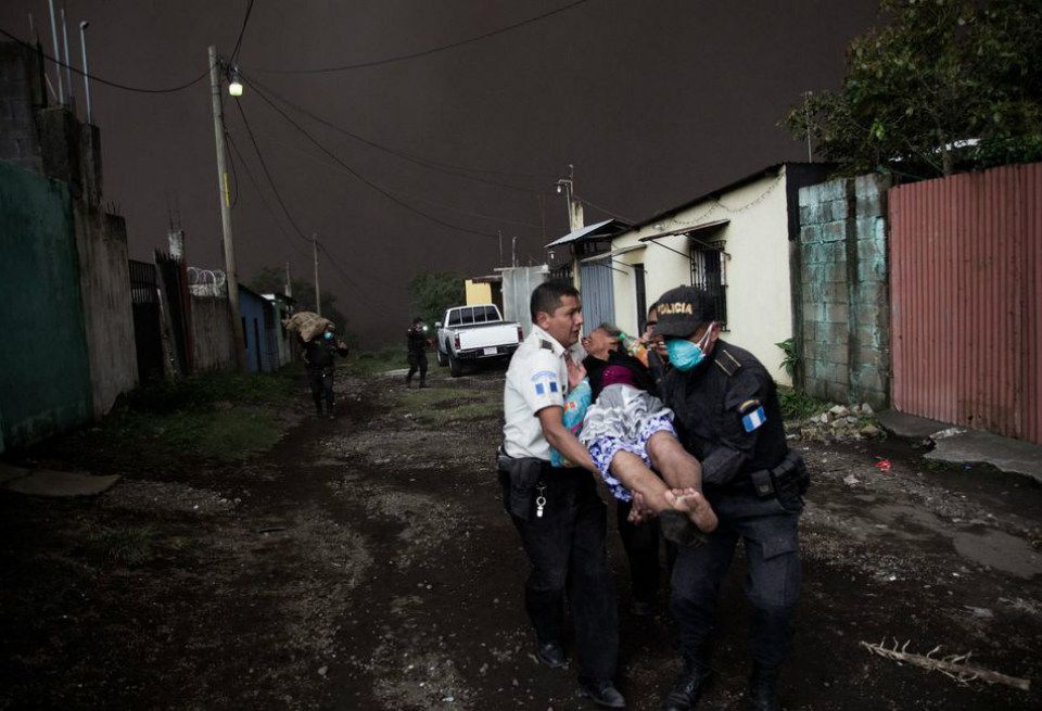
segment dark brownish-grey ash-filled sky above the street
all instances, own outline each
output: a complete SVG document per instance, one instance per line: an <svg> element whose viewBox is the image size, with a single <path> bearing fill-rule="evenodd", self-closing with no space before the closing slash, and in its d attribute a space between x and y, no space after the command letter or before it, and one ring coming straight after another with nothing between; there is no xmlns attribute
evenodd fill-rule
<svg viewBox="0 0 1042 711"><path fill-rule="evenodd" d="M347 330L364 340L396 337L411 316L408 280L424 269L492 272L497 231L505 261L516 236L519 263L542 262L542 245L567 231L554 182L569 163L581 198L640 219L772 163L805 160L805 147L777 122L802 91L838 86L844 48L875 22L877 4L587 0L417 59L323 74L270 72L419 52L572 1L255 1L238 58L247 78L242 109L297 226L317 231L341 265L323 256L321 279L339 296ZM206 69L208 45L231 53L247 4L67 0L73 63L80 65L78 25L88 20L91 73L139 87L183 84ZM50 52L47 0L5 0L0 26L28 39L28 13ZM81 102L82 80L73 79ZM481 169L466 175L483 182L429 169L287 110L370 182L443 223L493 237L439 225L365 186L276 113L250 79L368 141ZM131 256L151 258L165 246L176 201L189 263L223 268L208 80L171 94L96 82L91 100L105 196L127 218ZM282 214L227 96L225 116L263 191L262 200L233 152L240 278L285 262L309 277L310 245ZM587 223L605 217L586 207Z"/></svg>

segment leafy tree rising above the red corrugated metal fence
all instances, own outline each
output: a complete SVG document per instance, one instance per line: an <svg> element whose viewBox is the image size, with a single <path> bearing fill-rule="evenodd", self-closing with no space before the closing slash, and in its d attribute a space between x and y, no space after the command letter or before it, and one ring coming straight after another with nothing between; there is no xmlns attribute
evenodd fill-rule
<svg viewBox="0 0 1042 711"><path fill-rule="evenodd" d="M881 0L851 42L842 89L783 123L853 175L951 175L1042 160L1042 2Z"/></svg>

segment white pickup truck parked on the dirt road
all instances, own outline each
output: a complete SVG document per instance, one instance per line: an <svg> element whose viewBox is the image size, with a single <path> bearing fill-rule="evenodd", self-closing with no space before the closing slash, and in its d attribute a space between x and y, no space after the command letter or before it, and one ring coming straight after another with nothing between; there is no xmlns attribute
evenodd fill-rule
<svg viewBox="0 0 1042 711"><path fill-rule="evenodd" d="M434 327L437 364L447 365L453 378L463 373L465 363L509 358L524 339L521 325L504 321L495 304L454 306Z"/></svg>

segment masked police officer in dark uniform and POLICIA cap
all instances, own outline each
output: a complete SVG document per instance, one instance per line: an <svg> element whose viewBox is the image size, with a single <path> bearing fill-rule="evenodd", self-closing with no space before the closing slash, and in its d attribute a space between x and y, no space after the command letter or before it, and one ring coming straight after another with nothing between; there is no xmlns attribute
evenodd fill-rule
<svg viewBox="0 0 1042 711"><path fill-rule="evenodd" d="M720 340L710 295L672 289L659 300L658 316L656 333L672 366L662 399L676 415L685 449L701 461L703 492L720 519L704 546L677 553L671 608L684 672L662 709L694 708L712 675L716 600L739 539L753 608L749 701L761 711L780 709L775 686L800 593L797 526L806 469L786 444L774 381L749 352Z"/></svg>

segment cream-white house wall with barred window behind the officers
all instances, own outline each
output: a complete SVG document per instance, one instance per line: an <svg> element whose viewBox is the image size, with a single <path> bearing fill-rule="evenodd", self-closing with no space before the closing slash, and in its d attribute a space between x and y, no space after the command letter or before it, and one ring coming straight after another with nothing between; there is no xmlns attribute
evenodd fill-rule
<svg viewBox="0 0 1042 711"><path fill-rule="evenodd" d="M775 344L792 337L792 291L789 279L788 211L786 205L785 168L720 195L698 203L639 230L617 237L613 251L640 245L614 258L625 264L644 264L648 303L678 284L690 283L690 257L664 247L689 254L684 234L671 236L653 243L640 238L655 237L686 227L696 227L721 219L726 226L706 232L704 240L723 239L726 258L727 331L723 338L757 356L775 381L791 384L782 368L784 354ZM656 229L656 228L659 229ZM615 317L626 332L637 328L637 292L634 271L619 264L626 276L613 272Z"/></svg>

